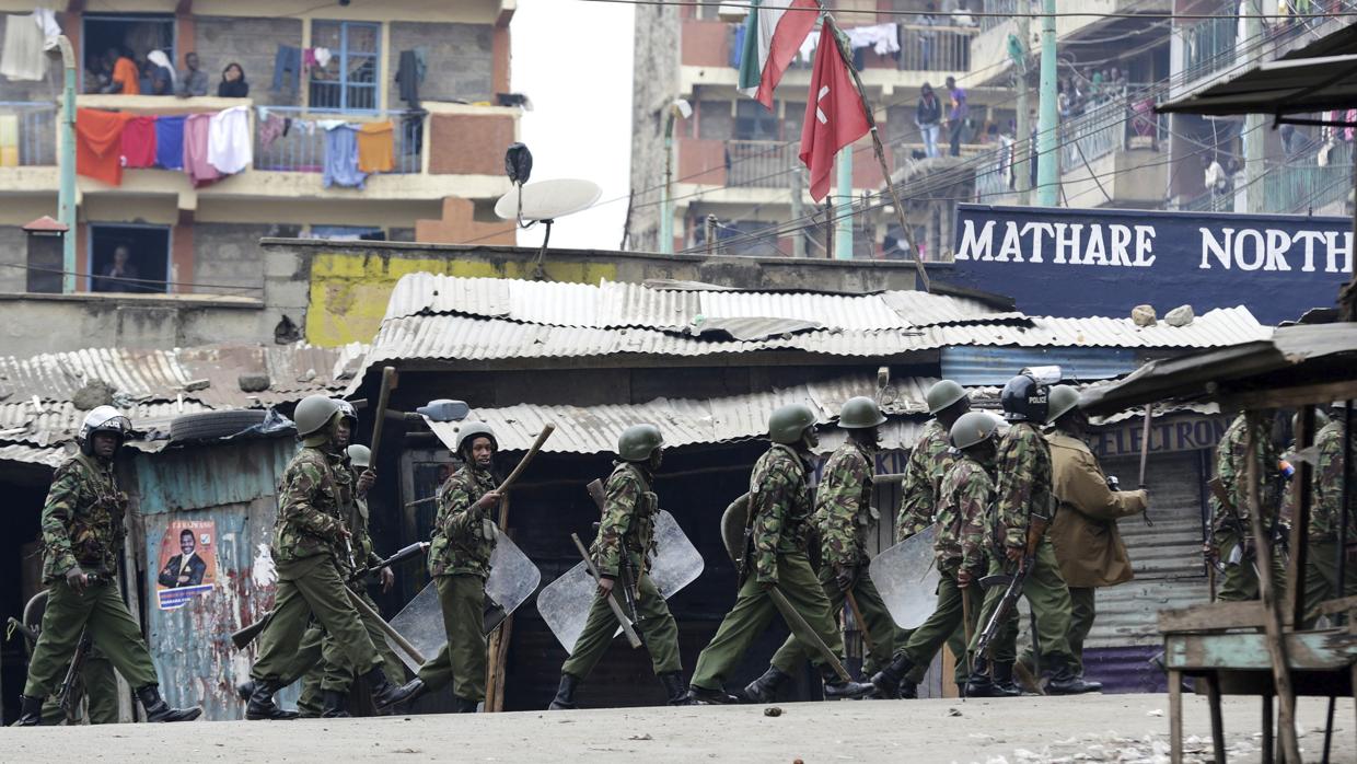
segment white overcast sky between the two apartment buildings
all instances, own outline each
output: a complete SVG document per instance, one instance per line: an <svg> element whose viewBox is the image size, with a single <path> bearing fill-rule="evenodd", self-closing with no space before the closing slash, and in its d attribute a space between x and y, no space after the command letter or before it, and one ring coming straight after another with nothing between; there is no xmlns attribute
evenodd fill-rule
<svg viewBox="0 0 1357 764"><path fill-rule="evenodd" d="M551 246L616 250L630 191L632 7L518 0L510 34L513 90L533 106L522 115L532 180L603 187L597 206L554 225ZM520 231L518 243L540 244L540 228Z"/></svg>

